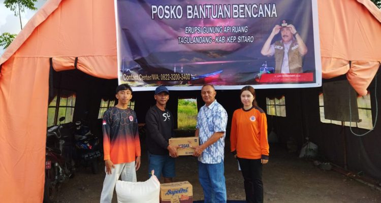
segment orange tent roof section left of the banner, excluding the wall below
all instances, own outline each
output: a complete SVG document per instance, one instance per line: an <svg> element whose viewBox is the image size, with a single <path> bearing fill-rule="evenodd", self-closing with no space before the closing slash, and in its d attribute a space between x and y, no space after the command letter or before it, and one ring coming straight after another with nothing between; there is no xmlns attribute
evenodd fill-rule
<svg viewBox="0 0 381 203"><path fill-rule="evenodd" d="M115 79L114 3L101 0L60 2L48 1L30 19L0 58L0 64L4 66L13 54L15 57L53 57L54 69L63 71L73 69L75 57L78 57L80 71ZM71 62L73 65L67 64Z"/></svg>

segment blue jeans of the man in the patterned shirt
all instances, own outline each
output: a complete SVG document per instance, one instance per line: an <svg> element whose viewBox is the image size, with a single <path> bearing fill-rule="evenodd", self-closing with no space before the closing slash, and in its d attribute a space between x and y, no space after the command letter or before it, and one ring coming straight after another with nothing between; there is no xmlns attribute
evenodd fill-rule
<svg viewBox="0 0 381 203"><path fill-rule="evenodd" d="M199 161L199 181L204 192L205 203L226 202L224 161L212 164Z"/></svg>

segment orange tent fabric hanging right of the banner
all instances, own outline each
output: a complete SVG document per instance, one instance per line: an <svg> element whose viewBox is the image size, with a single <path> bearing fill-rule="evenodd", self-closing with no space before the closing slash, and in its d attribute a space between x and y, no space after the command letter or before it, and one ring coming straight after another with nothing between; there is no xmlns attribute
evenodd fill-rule
<svg viewBox="0 0 381 203"><path fill-rule="evenodd" d="M319 0L318 7L322 77L346 74L366 95L381 61L381 10L369 0Z"/></svg>

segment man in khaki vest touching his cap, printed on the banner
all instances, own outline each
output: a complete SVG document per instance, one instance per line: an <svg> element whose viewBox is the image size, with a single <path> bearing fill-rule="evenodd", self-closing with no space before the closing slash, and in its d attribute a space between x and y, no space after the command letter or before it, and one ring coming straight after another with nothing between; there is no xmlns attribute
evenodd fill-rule
<svg viewBox="0 0 381 203"><path fill-rule="evenodd" d="M275 57L275 73L303 73L303 56L307 47L291 20L282 20L275 25L262 47L261 54ZM280 32L281 40L271 44L273 38Z"/></svg>

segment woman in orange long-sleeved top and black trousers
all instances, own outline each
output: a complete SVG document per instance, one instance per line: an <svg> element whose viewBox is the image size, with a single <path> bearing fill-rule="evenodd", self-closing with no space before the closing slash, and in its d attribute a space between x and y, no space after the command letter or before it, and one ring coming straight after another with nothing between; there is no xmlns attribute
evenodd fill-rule
<svg viewBox="0 0 381 203"><path fill-rule="evenodd" d="M262 165L269 160L266 114L253 87L243 87L240 95L243 107L233 114L230 148L241 167L246 201L263 202Z"/></svg>

